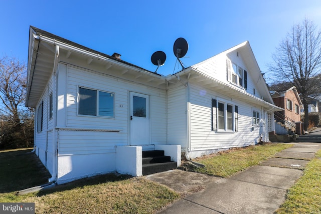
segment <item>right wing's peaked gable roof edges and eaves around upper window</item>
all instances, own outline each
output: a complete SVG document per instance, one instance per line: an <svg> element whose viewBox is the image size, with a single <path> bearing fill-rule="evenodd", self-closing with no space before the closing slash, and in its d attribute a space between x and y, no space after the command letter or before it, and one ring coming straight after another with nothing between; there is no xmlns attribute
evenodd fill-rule
<svg viewBox="0 0 321 214"><path fill-rule="evenodd" d="M235 50L237 50L241 55L243 55L244 58L246 57L247 62L245 65L249 70L251 70L252 77L256 79L257 82L255 84L257 85L257 88L260 90L260 94L263 96L263 99L251 95L247 93L244 89L241 89L239 87L232 87L230 84L220 81L215 77L207 75L199 70L199 67L201 67L203 64L210 63L211 61L213 61L214 58L227 55L228 53L231 53ZM182 84L186 84L188 81L194 81L196 84L201 83L203 87L207 87L213 91L224 94L233 99L242 100L258 108L263 107L269 112L284 110L283 108L274 105L273 99L269 93L265 80L260 72L260 69L258 67L258 64L256 62L253 51L248 41L234 46L233 48L230 48L224 52L221 52L215 55L214 57L211 57L195 65L192 65L174 75L168 75L167 80L170 83L175 83L175 81L179 81Z"/></svg>

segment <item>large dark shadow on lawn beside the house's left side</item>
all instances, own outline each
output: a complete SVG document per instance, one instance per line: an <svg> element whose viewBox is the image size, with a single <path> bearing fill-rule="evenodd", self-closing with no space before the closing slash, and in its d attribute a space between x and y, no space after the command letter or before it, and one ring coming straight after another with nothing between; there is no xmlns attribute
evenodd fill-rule
<svg viewBox="0 0 321 214"><path fill-rule="evenodd" d="M18 191L48 182L51 177L32 149L0 152L0 193Z"/></svg>

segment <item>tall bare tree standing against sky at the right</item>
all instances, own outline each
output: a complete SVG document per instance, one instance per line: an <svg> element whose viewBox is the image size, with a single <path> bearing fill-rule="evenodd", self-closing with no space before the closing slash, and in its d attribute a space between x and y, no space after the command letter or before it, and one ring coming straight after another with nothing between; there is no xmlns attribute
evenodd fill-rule
<svg viewBox="0 0 321 214"><path fill-rule="evenodd" d="M279 82L290 82L300 94L304 107L304 129L308 127L308 104L321 94L321 32L304 19L276 48L269 69Z"/></svg>

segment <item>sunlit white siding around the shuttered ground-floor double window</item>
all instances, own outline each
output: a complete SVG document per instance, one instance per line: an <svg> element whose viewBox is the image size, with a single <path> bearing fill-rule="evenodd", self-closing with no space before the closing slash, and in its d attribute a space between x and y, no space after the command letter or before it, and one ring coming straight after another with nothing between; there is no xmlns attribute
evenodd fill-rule
<svg viewBox="0 0 321 214"><path fill-rule="evenodd" d="M200 96L200 91L206 90L207 93ZM222 96L214 91L209 91L201 86L191 85L190 100L191 100L191 151L219 149L251 145L259 140L259 127L252 127L252 106L241 100L231 100L229 105L237 106L237 130L234 132L213 131L213 97ZM223 97L227 99L227 97ZM220 101L217 98L217 102ZM235 112L235 109L234 109ZM218 113L217 113L218 114ZM236 127L236 113L234 119L234 127ZM236 129L236 128L235 128Z"/></svg>

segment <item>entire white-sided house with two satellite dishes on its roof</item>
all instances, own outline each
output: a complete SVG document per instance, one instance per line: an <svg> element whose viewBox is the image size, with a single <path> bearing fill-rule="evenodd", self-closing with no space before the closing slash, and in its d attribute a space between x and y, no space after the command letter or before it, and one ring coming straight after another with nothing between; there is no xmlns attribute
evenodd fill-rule
<svg viewBox="0 0 321 214"><path fill-rule="evenodd" d="M269 141L273 104L249 42L163 76L31 27L26 105L35 151L58 183L142 175L142 150L177 165Z"/></svg>

